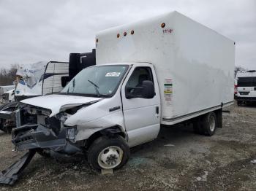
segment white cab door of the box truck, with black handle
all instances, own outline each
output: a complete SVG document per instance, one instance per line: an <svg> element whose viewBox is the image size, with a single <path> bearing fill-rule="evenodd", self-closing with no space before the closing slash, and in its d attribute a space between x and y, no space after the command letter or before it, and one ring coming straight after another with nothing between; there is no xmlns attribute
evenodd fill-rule
<svg viewBox="0 0 256 191"><path fill-rule="evenodd" d="M153 98L141 97L140 91L145 80L154 84ZM132 97L129 96L130 93L133 93ZM129 147L156 139L160 128L161 109L154 67L149 63L132 66L124 80L121 96Z"/></svg>

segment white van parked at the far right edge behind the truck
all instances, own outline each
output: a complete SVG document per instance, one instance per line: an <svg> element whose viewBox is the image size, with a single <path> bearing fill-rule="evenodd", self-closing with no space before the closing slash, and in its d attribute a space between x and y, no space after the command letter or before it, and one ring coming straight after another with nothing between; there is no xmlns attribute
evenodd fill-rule
<svg viewBox="0 0 256 191"><path fill-rule="evenodd" d="M237 103L256 102L256 70L238 71L237 80Z"/></svg>

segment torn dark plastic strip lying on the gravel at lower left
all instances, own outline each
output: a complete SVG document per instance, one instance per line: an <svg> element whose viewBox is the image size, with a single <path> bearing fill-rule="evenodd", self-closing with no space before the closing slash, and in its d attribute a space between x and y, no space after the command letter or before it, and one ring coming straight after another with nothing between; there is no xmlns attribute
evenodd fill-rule
<svg viewBox="0 0 256 191"><path fill-rule="evenodd" d="M0 173L0 184L14 184L20 177L20 174L29 164L31 159L36 153L35 150L29 150L23 157L20 157L20 160L13 163L9 168Z"/></svg>

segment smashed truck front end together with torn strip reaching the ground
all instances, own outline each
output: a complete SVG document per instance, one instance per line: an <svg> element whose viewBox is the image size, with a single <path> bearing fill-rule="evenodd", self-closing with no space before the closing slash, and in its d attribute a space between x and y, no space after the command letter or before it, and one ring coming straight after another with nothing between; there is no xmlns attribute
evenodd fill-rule
<svg viewBox="0 0 256 191"><path fill-rule="evenodd" d="M14 184L38 152L50 155L73 155L83 152L84 142L75 141L76 126L64 125L65 120L83 107L65 107L58 114L50 116L50 109L20 104L16 110L16 128L12 129L12 143L15 150L28 152L9 168L0 172L0 184Z"/></svg>

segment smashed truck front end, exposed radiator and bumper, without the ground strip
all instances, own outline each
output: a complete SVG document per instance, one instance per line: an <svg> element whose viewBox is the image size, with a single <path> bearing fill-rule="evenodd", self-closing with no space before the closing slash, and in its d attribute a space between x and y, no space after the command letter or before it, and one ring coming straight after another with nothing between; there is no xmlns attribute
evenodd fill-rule
<svg viewBox="0 0 256 191"><path fill-rule="evenodd" d="M50 114L50 109L27 104L20 106L16 112L17 127L12 129L15 149L46 149L70 155L81 152L75 144L77 128L64 125L70 114L60 112L52 117Z"/></svg>

